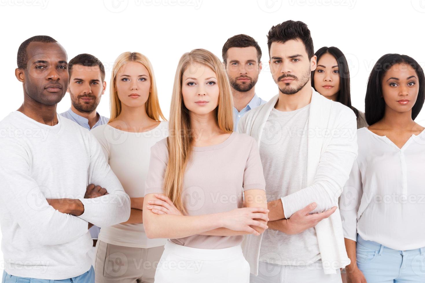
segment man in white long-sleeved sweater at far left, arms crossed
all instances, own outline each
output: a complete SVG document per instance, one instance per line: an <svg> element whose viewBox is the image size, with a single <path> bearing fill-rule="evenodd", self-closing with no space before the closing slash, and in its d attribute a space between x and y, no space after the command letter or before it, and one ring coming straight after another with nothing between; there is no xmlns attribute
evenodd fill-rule
<svg viewBox="0 0 425 283"><path fill-rule="evenodd" d="M127 221L130 198L96 138L57 115L68 87L62 46L31 37L17 64L24 101L0 122L2 282L94 282L88 228Z"/></svg>

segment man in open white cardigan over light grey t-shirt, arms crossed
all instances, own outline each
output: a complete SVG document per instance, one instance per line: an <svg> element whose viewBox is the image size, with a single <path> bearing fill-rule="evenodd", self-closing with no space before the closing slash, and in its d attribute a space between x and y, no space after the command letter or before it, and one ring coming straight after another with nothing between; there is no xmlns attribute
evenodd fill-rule
<svg viewBox="0 0 425 283"><path fill-rule="evenodd" d="M238 128L258 142L270 209L269 229L243 243L251 283L339 283L350 260L337 205L357 157L356 117L311 87L316 56L305 23L283 22L267 38L279 94Z"/></svg>

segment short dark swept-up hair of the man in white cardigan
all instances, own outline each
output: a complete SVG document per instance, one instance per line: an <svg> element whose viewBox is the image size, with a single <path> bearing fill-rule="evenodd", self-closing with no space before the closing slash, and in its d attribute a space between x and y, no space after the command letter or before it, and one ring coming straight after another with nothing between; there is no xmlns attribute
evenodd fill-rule
<svg viewBox="0 0 425 283"><path fill-rule="evenodd" d="M267 34L267 46L270 47L273 42L285 43L288 40L300 39L306 47L307 55L309 59L314 56L313 39L310 34L310 30L307 25L301 21L288 20L281 24L274 25Z"/></svg>

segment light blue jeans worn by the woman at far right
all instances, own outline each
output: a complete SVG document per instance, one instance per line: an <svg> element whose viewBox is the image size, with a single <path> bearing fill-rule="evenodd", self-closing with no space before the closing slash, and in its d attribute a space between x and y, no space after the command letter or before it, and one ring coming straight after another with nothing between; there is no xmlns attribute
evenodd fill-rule
<svg viewBox="0 0 425 283"><path fill-rule="evenodd" d="M425 282L425 247L398 251L357 234L356 255L368 283Z"/></svg>

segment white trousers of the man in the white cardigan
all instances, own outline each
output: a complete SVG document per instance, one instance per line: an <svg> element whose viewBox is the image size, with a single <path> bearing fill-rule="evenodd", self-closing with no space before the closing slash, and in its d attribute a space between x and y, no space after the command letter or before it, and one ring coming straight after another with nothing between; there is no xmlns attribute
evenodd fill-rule
<svg viewBox="0 0 425 283"><path fill-rule="evenodd" d="M322 261L309 265L290 266L258 262L258 276L251 274L250 283L341 283L340 269L337 274L325 274Z"/></svg>

